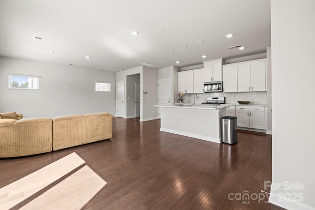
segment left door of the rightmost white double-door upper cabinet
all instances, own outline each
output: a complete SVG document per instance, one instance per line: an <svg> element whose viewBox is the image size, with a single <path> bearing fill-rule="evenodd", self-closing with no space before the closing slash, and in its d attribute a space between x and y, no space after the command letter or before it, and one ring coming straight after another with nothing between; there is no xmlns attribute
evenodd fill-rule
<svg viewBox="0 0 315 210"><path fill-rule="evenodd" d="M250 62L237 64L237 86L238 86L239 92L251 91L251 63Z"/></svg>

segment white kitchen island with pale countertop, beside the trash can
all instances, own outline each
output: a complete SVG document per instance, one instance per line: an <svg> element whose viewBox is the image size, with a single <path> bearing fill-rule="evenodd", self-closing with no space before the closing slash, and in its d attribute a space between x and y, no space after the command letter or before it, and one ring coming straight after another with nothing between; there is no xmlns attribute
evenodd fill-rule
<svg viewBox="0 0 315 210"><path fill-rule="evenodd" d="M221 143L225 106L159 106L160 131Z"/></svg>

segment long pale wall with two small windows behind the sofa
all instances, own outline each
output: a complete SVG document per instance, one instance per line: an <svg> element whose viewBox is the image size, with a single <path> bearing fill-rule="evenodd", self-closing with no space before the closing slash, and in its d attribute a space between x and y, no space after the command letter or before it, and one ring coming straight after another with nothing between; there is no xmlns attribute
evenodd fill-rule
<svg viewBox="0 0 315 210"><path fill-rule="evenodd" d="M39 90L9 90L8 74L40 76ZM95 81L111 82L112 91L95 92ZM0 57L0 112L16 111L23 118L115 114L115 95L114 72Z"/></svg>

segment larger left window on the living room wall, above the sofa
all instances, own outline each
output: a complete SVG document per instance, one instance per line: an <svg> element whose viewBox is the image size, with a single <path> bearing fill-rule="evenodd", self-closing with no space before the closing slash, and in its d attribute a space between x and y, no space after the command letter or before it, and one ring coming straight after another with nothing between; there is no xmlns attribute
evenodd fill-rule
<svg viewBox="0 0 315 210"><path fill-rule="evenodd" d="M9 89L38 90L39 76L9 74Z"/></svg>

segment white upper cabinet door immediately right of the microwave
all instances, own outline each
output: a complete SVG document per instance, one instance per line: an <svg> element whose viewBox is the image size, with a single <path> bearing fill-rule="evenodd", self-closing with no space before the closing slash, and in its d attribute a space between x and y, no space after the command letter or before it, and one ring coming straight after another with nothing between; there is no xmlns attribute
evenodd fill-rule
<svg viewBox="0 0 315 210"><path fill-rule="evenodd" d="M237 92L237 65L223 66L223 92Z"/></svg>

